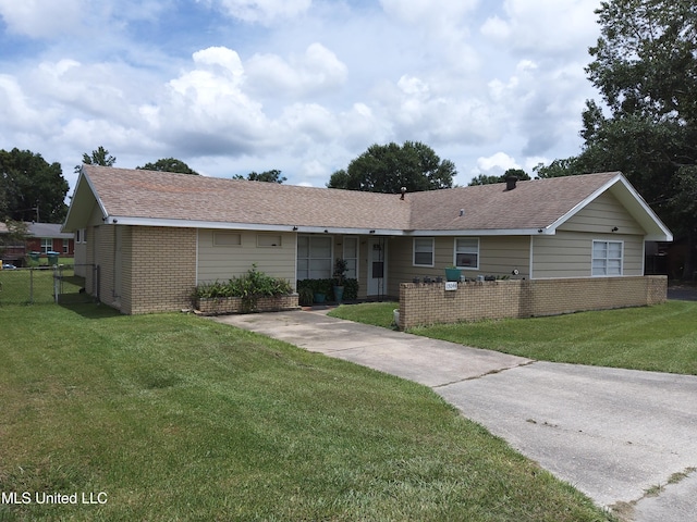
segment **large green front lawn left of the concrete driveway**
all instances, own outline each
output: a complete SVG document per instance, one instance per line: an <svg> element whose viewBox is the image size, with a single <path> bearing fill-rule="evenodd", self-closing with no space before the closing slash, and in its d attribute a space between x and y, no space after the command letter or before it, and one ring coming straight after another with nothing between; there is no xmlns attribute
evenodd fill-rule
<svg viewBox="0 0 697 522"><path fill-rule="evenodd" d="M185 314L0 308L0 520L596 521L430 389ZM102 497L103 498L103 497Z"/></svg>

